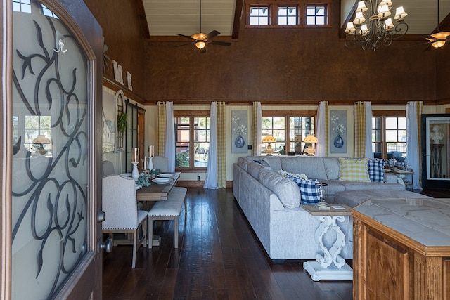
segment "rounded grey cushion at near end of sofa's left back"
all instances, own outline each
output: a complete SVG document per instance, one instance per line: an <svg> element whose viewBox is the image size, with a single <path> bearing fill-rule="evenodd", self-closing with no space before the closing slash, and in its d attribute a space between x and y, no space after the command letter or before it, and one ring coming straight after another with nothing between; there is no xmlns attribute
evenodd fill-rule
<svg viewBox="0 0 450 300"><path fill-rule="evenodd" d="M284 207L295 208L300 205L300 190L294 181L264 168L259 171L258 180L277 195Z"/></svg>

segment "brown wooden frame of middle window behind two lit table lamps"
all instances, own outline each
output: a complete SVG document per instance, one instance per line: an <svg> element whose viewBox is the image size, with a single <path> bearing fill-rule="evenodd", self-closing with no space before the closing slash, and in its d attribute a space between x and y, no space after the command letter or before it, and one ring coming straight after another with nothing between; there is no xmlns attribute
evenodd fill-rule
<svg viewBox="0 0 450 300"><path fill-rule="evenodd" d="M285 145L285 154L288 155L288 152L295 152L295 144L294 149L290 149L290 143L296 143L295 140L290 140L290 117L312 117L313 121L311 123L311 129L309 131L312 133L315 133L316 130L316 115L317 110L262 110L262 117L284 117L284 135L285 135L285 141L276 141L276 143L284 143ZM263 129L262 129L263 130ZM273 128L271 129L273 132ZM304 129L302 129L304 130ZM262 133L261 133L262 134ZM275 137L275 136L274 136ZM264 134L262 134L261 139L264 138ZM305 136L302 136L302 140L305 138ZM276 145L276 143L274 143ZM264 149L266 147L266 143L261 143L261 155L265 155ZM275 148L275 145L272 145L272 148ZM304 150L304 143L303 141L300 142L300 148L303 152Z"/></svg>

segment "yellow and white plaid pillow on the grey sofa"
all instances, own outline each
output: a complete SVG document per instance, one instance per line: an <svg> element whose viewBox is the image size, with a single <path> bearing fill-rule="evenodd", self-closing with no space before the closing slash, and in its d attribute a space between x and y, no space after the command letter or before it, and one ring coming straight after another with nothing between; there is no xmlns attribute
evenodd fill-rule
<svg viewBox="0 0 450 300"><path fill-rule="evenodd" d="M368 176L368 158L339 157L339 180L371 182Z"/></svg>

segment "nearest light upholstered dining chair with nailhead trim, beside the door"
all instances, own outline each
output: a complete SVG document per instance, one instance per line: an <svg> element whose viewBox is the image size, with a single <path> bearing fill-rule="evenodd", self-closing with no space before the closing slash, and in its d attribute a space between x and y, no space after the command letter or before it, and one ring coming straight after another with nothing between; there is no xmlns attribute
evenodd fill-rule
<svg viewBox="0 0 450 300"><path fill-rule="evenodd" d="M108 233L114 242L114 233L132 233L133 261L131 268L136 266L136 252L143 243L147 244L147 214L148 211L136 208L136 188L133 178L120 175L110 175L103 178L102 210L105 211L105 221L102 223L103 233ZM142 226L142 237L139 228Z"/></svg>

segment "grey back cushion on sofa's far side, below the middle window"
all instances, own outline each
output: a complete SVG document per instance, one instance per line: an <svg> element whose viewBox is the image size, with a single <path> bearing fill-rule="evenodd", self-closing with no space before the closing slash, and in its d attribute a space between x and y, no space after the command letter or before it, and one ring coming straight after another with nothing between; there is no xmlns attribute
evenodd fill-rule
<svg viewBox="0 0 450 300"><path fill-rule="evenodd" d="M305 174L311 179L327 179L323 157L281 157L281 169Z"/></svg>

